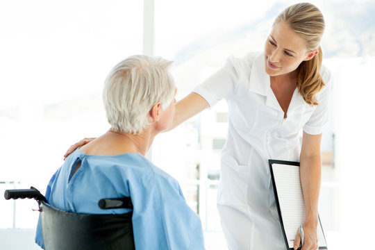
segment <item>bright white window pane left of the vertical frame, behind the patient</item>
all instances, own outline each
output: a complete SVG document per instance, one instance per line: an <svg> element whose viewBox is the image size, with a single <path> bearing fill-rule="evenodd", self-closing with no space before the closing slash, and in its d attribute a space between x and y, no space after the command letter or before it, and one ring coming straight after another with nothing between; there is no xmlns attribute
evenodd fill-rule
<svg viewBox="0 0 375 250"><path fill-rule="evenodd" d="M142 22L142 1L1 3L2 193L44 193L69 145L109 128L103 83L119 60L142 53ZM0 206L0 228L35 228L35 201Z"/></svg>

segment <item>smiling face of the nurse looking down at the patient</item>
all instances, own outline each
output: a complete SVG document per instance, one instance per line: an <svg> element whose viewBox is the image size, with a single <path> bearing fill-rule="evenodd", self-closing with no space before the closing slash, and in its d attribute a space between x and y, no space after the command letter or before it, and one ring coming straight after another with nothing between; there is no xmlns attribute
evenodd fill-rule
<svg viewBox="0 0 375 250"><path fill-rule="evenodd" d="M265 43L265 71L269 76L294 72L303 62L309 60L306 42L284 22L272 28Z"/></svg>

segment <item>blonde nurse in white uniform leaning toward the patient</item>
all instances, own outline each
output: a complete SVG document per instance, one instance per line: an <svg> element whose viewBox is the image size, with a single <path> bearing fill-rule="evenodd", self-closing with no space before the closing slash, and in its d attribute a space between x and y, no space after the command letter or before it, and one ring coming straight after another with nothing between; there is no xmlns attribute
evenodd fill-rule
<svg viewBox="0 0 375 250"><path fill-rule="evenodd" d="M221 99L228 103L217 194L228 249L285 249L268 159L300 161L306 203L302 250L317 249L320 143L331 84L322 66L323 33L318 8L310 3L290 6L276 17L262 53L228 58L176 104L174 127ZM299 242L297 233L294 249Z"/></svg>

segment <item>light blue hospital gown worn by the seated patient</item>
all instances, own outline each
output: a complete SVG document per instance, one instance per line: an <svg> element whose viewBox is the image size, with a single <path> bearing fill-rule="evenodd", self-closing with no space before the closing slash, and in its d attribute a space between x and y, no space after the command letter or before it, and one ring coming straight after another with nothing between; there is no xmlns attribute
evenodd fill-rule
<svg viewBox="0 0 375 250"><path fill-rule="evenodd" d="M52 176L45 197L60 210L89 214L127 213L101 210L98 201L131 197L135 249L204 249L201 221L178 182L140 153L94 156L76 149ZM44 248L40 222L35 242Z"/></svg>

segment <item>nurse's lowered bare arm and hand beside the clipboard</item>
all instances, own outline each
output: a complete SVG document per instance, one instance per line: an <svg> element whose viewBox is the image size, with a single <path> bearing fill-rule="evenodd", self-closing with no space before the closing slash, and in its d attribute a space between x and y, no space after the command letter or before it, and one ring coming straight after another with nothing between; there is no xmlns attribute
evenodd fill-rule
<svg viewBox="0 0 375 250"><path fill-rule="evenodd" d="M322 156L320 152L321 140L322 134L309 135L308 133L303 132L300 156L300 175L303 199L305 200L306 206L306 220L303 224L305 244L303 244L302 250L315 250L318 247L318 201L322 176ZM299 244L299 235L297 235L295 243ZM294 247L294 249L297 248Z"/></svg>

